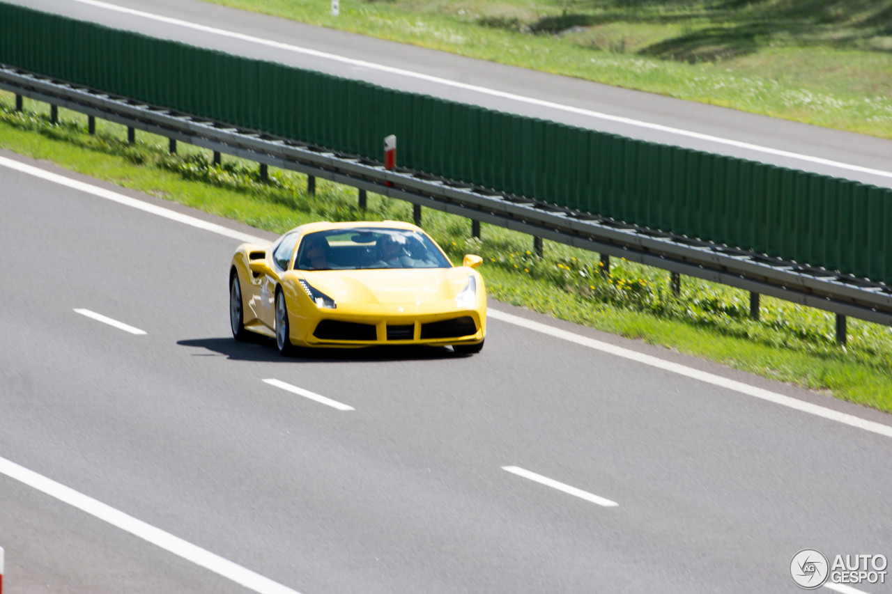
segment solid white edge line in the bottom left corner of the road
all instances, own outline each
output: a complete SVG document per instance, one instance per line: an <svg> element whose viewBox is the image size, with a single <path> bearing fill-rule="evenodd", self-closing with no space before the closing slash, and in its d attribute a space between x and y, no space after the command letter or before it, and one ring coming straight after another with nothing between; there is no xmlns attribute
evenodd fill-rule
<svg viewBox="0 0 892 594"><path fill-rule="evenodd" d="M77 507L81 511L87 512L90 516L103 520L103 522L120 528L120 530L129 532L137 538L186 559L186 561L200 565L249 590L259 592L260 594L299 594L296 590L273 582L269 578L260 575L260 573L255 573L241 565L236 565L232 561L197 547L191 542L178 538L169 532L164 532L160 528L155 528L151 524L146 524L142 520L137 520L133 516L128 516L128 514L114 507L88 497L79 491L74 491L62 483L56 483L54 480L48 479L42 474L37 474L24 466L19 466L6 458L0 458L0 474L5 474L13 480L26 484L72 507Z"/></svg>

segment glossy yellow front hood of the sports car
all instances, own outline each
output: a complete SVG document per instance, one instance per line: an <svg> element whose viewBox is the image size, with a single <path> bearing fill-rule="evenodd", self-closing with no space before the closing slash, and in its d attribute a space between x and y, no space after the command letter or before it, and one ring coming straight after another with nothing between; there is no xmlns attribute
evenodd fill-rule
<svg viewBox="0 0 892 594"><path fill-rule="evenodd" d="M467 268L306 271L304 277L339 303L422 305L455 299L467 285Z"/></svg>

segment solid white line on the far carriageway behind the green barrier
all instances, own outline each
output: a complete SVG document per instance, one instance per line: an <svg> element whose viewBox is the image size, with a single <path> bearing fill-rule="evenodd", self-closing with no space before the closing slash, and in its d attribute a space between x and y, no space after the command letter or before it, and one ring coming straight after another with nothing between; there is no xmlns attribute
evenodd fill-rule
<svg viewBox="0 0 892 594"><path fill-rule="evenodd" d="M245 35L244 33L235 33L234 31L227 31L226 29L216 29L214 27L208 27L205 25L199 25L189 21L182 21L179 19L174 19L172 17L165 17L159 14L153 14L152 12L143 12L137 11L132 8L124 8L123 6L117 6L115 4L108 4L105 2L99 2L98 0L74 0L74 2L79 2L81 4L90 4L92 6L96 6L98 8L104 8L106 10L123 12L126 14L132 14L133 16L142 17L145 19L150 19L153 21L160 21L169 25L176 25L179 27L185 27L186 29L194 29L198 31L203 31L205 33L211 33L214 35L219 35L221 37L230 37L234 39L240 39L242 41L248 41L255 44L267 45L269 47L275 47L276 49L281 49L289 52L293 52L295 54L306 54L315 56L318 58L324 58L327 60L332 60L335 62L343 62L345 64L350 64L351 66L358 66L361 68L368 68L370 70L380 70L383 72L388 72L391 74L396 74L399 76L407 77L407 78L417 78L419 80L424 80L425 82L436 83L439 85L445 85L447 87L455 87L460 88L466 91L473 91L475 93L480 93L483 95L491 95L494 97L500 97L502 99L509 99L511 101L516 101L518 103L528 103L531 105L536 105L538 107L547 107L549 109L555 109L560 111L567 111L570 113L575 113L577 115L588 116L591 118L597 118L599 120L608 120L614 121L617 123L625 124L627 126L634 126L637 128L647 128L650 130L655 130L657 132L665 132L668 134L674 134L677 136L687 136L689 138L694 138L697 140L702 140L706 142L712 142L716 144L724 144L727 146L734 146L736 148L746 149L748 151L756 151L757 153L765 153L772 154L779 157L787 157L789 159L797 159L799 161L806 161L810 163L814 163L816 165L826 165L829 167L836 167L838 169L847 169L849 171L857 171L859 173L866 173L870 175L880 176L880 177L892 177L892 171L883 171L882 169L871 169L867 167L862 167L860 165L853 165L851 163L843 163L841 161L832 161L830 159L824 159L822 157L814 157L812 155L806 155L801 153L792 153L789 151L781 151L780 149L773 149L767 146L761 146L759 144L751 144L740 142L738 140L731 140L730 138L723 138L721 136L712 136L708 134L701 134L699 132L693 132L690 130L685 130L682 128L672 128L670 126L663 126L661 124L654 124L651 122L634 120L632 118L624 118L621 116L610 115L609 113L603 113L601 111L591 111L587 109L582 109L580 107L573 107L572 105L564 105L562 103L553 103L550 101L545 101L542 99L534 99L533 97L526 97L524 95L515 95L513 93L507 93L504 91L497 91L495 89L487 88L487 87L478 87L475 85L468 85L467 83L460 83L455 80L450 80L448 78L440 78L434 77L427 74L422 74L420 72L414 72L412 70L403 70L400 68L393 68L392 66L384 66L383 64L376 64L374 62L365 62L363 60L356 60L353 58L346 58L337 54L328 54L326 52L321 52L318 50L313 50L307 47L301 47L299 45L289 45L277 41L270 41L268 39L262 39L260 37L252 37L250 35Z"/></svg>

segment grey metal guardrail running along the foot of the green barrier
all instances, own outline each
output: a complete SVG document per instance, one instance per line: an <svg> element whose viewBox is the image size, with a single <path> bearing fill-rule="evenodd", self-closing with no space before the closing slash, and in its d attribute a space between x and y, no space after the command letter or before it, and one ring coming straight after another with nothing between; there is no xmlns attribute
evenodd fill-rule
<svg viewBox="0 0 892 594"><path fill-rule="evenodd" d="M493 192L255 130L108 95L0 65L0 88L214 152L291 169L418 206L507 227L535 237L623 257L673 273L796 302L838 315L839 342L845 318L892 326L892 287L832 270L769 258L655 229L635 227L575 210ZM840 325L840 321L842 324ZM840 336L841 332L841 336Z"/></svg>

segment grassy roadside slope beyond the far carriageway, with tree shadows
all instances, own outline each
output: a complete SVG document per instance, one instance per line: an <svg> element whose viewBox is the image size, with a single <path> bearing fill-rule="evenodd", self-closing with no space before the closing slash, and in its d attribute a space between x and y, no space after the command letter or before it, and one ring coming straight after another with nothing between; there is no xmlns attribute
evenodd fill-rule
<svg viewBox="0 0 892 594"><path fill-rule="evenodd" d="M887 0L208 0L892 138Z"/></svg>

